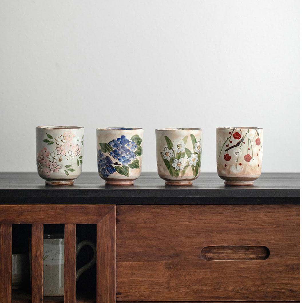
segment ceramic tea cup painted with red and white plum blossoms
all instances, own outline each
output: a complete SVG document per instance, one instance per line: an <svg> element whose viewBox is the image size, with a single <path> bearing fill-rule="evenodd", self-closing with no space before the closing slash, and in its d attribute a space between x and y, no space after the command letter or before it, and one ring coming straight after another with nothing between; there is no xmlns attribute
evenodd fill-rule
<svg viewBox="0 0 303 303"><path fill-rule="evenodd" d="M263 129L218 127L217 171L226 185L253 185L261 175Z"/></svg>

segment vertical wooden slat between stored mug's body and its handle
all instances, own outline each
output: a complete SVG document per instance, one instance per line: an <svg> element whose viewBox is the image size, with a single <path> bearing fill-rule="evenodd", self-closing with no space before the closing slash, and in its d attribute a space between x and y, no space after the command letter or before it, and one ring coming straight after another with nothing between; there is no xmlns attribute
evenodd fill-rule
<svg viewBox="0 0 303 303"><path fill-rule="evenodd" d="M64 231L64 302L76 301L76 225L65 224Z"/></svg>

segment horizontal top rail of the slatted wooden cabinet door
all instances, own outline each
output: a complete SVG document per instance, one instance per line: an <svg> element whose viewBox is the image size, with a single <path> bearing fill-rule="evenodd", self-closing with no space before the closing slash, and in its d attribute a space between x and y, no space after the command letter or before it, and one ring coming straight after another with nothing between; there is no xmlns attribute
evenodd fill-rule
<svg viewBox="0 0 303 303"><path fill-rule="evenodd" d="M113 205L0 205L0 223L97 224Z"/></svg>

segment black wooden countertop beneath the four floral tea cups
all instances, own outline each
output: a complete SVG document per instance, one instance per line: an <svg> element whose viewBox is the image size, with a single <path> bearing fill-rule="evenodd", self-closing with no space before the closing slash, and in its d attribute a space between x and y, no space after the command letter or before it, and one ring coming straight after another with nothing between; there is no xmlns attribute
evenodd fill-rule
<svg viewBox="0 0 303 303"><path fill-rule="evenodd" d="M142 173L132 186L105 185L98 173L82 173L74 185L45 185L37 173L0 173L1 204L299 204L299 173L263 173L253 186L227 186L201 173L192 186L164 185Z"/></svg>

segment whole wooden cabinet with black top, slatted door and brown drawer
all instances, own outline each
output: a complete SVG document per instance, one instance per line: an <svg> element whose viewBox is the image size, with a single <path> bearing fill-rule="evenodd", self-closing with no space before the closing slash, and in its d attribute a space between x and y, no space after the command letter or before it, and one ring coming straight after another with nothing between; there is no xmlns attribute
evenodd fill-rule
<svg viewBox="0 0 303 303"><path fill-rule="evenodd" d="M299 175L224 186L216 174L165 186L73 186L0 173L0 303L299 301ZM65 234L64 297L43 297L43 233ZM18 232L16 232L18 231ZM12 253L32 244L32 291L11 289ZM76 237L97 246L92 278L75 282ZM23 241L20 241L23 238ZM26 243L27 242L27 243Z"/></svg>

